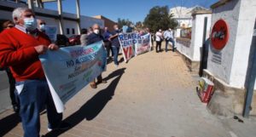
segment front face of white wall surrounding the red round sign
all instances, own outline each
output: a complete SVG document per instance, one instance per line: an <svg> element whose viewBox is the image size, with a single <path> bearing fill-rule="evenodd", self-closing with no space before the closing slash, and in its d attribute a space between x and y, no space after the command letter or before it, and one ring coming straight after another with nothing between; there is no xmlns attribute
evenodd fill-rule
<svg viewBox="0 0 256 137"><path fill-rule="evenodd" d="M240 3L241 1L238 2L238 0L230 1L230 3L226 3L223 6L212 10L212 26L219 19L225 20L229 25L230 39L224 49L220 51L212 49L212 45L210 45L207 70L210 71L214 77L217 77L228 84L230 84L230 75L236 45L237 20L239 20ZM218 57L220 61L216 61L216 57Z"/></svg>

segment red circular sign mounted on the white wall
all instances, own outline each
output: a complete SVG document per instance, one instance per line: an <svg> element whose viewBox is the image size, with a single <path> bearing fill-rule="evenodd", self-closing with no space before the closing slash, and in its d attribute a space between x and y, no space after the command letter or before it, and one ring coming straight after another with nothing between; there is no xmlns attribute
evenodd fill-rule
<svg viewBox="0 0 256 137"><path fill-rule="evenodd" d="M214 49L223 49L228 43L230 30L226 21L220 19L212 27L211 42Z"/></svg>

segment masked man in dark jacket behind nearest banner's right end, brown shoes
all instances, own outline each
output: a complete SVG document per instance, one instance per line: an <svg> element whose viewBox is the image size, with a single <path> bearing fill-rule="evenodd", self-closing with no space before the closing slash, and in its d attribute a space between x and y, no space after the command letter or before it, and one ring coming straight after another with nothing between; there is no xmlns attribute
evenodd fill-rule
<svg viewBox="0 0 256 137"><path fill-rule="evenodd" d="M92 26L92 31L93 32L90 33L90 35L87 37L86 45L90 45L91 43L96 43L96 42L100 42L100 41L104 42L104 37L102 37L102 35L100 34L100 29L101 29L100 26L97 25L97 24L94 24ZM102 74L100 74L97 77L97 83L107 83L107 81L102 79ZM90 87L91 88L97 88L95 79L92 82L90 82Z"/></svg>

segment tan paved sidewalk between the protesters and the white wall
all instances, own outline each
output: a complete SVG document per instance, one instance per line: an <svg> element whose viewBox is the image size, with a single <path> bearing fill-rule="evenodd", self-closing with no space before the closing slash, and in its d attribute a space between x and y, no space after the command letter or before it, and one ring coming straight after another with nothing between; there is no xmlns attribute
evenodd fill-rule
<svg viewBox="0 0 256 137"><path fill-rule="evenodd" d="M119 56L119 58L121 55ZM245 123L232 117L212 116L199 100L192 76L177 53L152 51L113 63L103 73L107 84L83 88L67 102L67 131L47 133L47 118L41 118L41 134L62 137L245 137L255 136L253 119ZM2 136L22 136L17 116L11 110L0 115Z"/></svg>

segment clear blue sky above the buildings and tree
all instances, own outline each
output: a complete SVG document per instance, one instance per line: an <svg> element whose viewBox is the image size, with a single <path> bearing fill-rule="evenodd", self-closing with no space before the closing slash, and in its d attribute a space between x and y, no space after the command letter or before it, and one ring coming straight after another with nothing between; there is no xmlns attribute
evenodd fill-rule
<svg viewBox="0 0 256 137"><path fill-rule="evenodd" d="M81 14L94 16L102 14L110 20L117 21L118 18L129 19L133 22L143 21L149 9L154 6L165 6L169 8L180 6L193 7L200 5L209 8L218 0L80 0ZM56 3L45 3L46 9L57 9ZM75 0L63 0L64 12L76 13Z"/></svg>

